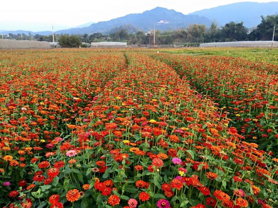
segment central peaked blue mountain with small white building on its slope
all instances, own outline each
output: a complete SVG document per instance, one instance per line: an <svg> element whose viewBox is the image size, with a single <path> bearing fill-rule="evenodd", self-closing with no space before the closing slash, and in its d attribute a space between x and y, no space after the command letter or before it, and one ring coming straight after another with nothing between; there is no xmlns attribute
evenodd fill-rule
<svg viewBox="0 0 278 208"><path fill-rule="evenodd" d="M185 15L173 9L156 7L142 13L128 14L122 17L111 19L109 21L100 21L83 28L71 28L59 30L55 33L68 34L91 34L94 32L107 33L115 27L122 25L132 25L135 28L148 31L155 25L156 29L171 30L188 27L190 24L210 25L211 21L206 17L197 15Z"/></svg>

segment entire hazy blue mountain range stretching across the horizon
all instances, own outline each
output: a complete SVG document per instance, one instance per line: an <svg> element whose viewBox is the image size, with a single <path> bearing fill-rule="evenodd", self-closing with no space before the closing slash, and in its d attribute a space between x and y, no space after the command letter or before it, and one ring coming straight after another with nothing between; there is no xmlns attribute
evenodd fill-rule
<svg viewBox="0 0 278 208"><path fill-rule="evenodd" d="M153 29L154 26L155 29L159 30L174 30L188 27L190 24L205 24L207 27L209 27L212 21L216 21L218 26L222 26L229 21L243 21L244 26L251 28L260 23L261 15L272 15L277 12L278 1L268 3L232 3L195 11L188 15L177 12L173 9L156 7L142 13L127 14L122 17L114 18L108 21L100 21L97 23L87 22L70 29L56 30L54 32L56 34L92 34L95 32L101 32L105 34L114 32L120 28L125 28L128 32L136 32L138 30L149 31ZM24 30L5 31L4 28L1 28L0 31L1 34L28 34L29 32L31 35L50 35L52 33L49 30L40 32Z"/></svg>

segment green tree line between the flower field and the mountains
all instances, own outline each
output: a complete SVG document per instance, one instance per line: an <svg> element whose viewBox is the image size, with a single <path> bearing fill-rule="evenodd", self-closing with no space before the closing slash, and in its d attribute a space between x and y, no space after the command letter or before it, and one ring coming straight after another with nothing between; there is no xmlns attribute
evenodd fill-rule
<svg viewBox="0 0 278 208"><path fill-rule="evenodd" d="M202 42L224 42L224 41L243 41L243 40L272 40L273 26L276 24L274 40L278 40L278 14L261 16L261 22L254 28L248 29L243 22L235 23L233 21L218 27L212 22L207 28L204 24L192 24L185 29L171 31L155 31L155 45L185 45L199 44ZM11 34L5 35L4 38L17 40L39 40L52 42L52 35L32 36ZM82 35L58 35L55 34L55 41L59 42L62 47L88 47L90 42L100 41L121 41L129 45L153 45L153 31L128 32L128 28L115 28L110 34L100 32ZM82 44L83 42L83 44ZM88 44L84 44L88 43Z"/></svg>

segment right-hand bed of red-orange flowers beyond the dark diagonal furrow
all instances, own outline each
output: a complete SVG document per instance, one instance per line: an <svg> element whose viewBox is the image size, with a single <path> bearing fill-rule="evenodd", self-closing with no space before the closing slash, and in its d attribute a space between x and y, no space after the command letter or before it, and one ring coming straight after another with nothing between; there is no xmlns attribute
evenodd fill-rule
<svg viewBox="0 0 278 208"><path fill-rule="evenodd" d="M157 57L157 56L156 56ZM231 126L259 149L278 152L278 66L220 56L160 55L202 95L228 112Z"/></svg>

